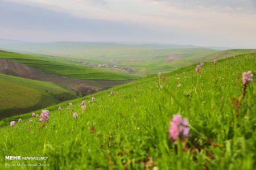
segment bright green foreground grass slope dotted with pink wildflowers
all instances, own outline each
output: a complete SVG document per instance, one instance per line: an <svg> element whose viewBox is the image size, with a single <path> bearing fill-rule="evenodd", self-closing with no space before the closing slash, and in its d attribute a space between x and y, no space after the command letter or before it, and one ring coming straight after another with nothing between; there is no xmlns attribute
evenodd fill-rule
<svg viewBox="0 0 256 170"><path fill-rule="evenodd" d="M255 54L205 63L200 73L195 67L98 92L90 103L92 96L71 101L71 108L64 102L61 112L49 107L43 125L31 113L21 123L17 116L2 120L0 168L19 162L5 155L20 155L48 156L24 162L49 163L42 169L254 169L256 86L247 84L242 97L242 73L255 75ZM174 114L189 120L183 145L169 138Z"/></svg>

